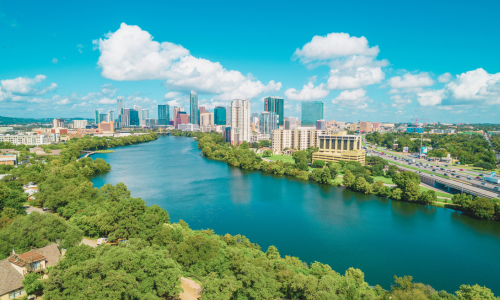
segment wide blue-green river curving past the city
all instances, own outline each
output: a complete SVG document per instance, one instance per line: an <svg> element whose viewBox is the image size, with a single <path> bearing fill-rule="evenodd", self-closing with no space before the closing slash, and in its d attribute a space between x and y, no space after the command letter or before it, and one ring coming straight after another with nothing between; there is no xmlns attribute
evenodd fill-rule
<svg viewBox="0 0 500 300"><path fill-rule="evenodd" d="M241 233L265 251L339 273L360 268L370 285L390 288L394 275L455 292L480 284L500 294L500 223L450 209L391 201L290 177L243 171L199 155L185 137L115 148L94 155L112 166L99 187L123 182L172 222L217 234Z"/></svg>

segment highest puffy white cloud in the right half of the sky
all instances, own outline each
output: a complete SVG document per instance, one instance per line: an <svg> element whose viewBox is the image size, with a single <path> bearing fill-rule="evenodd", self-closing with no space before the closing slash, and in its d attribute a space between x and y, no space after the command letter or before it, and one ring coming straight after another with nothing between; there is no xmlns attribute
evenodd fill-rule
<svg viewBox="0 0 500 300"><path fill-rule="evenodd" d="M295 50L294 56L308 63L351 55L377 56L379 51L378 46L368 46L364 36L358 38L348 33L333 32L326 36L314 36L302 49Z"/></svg>

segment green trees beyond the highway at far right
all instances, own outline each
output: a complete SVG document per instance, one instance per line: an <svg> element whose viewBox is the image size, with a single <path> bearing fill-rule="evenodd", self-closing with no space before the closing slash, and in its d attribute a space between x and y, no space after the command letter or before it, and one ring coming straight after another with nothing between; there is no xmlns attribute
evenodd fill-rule
<svg viewBox="0 0 500 300"><path fill-rule="evenodd" d="M433 149L428 152L429 157L446 157L449 153L451 157L458 158L462 164L484 161L495 165L497 161L488 141L479 134L424 134L423 139L426 140L422 141L422 146ZM367 134L366 140L389 149L393 149L396 143L398 148L395 151L398 152L402 152L404 147L408 147L409 152L420 151L420 135L417 133L374 132Z"/></svg>

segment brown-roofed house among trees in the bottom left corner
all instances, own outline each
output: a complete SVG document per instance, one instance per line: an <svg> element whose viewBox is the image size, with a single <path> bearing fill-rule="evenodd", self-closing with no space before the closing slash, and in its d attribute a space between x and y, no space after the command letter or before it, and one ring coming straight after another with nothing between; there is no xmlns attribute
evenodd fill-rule
<svg viewBox="0 0 500 300"><path fill-rule="evenodd" d="M9 258L0 260L0 300L8 300L26 295L23 288L23 278L29 273L41 273L48 266L59 262L61 252L56 244L40 249L32 249L23 254L12 251Z"/></svg>

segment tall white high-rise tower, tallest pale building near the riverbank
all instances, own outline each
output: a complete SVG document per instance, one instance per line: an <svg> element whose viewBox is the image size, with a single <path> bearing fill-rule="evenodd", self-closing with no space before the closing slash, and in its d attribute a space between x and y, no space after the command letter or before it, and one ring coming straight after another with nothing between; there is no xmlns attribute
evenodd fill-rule
<svg viewBox="0 0 500 300"><path fill-rule="evenodd" d="M251 134L250 100L231 101L231 143L238 145L243 141L250 142Z"/></svg>

